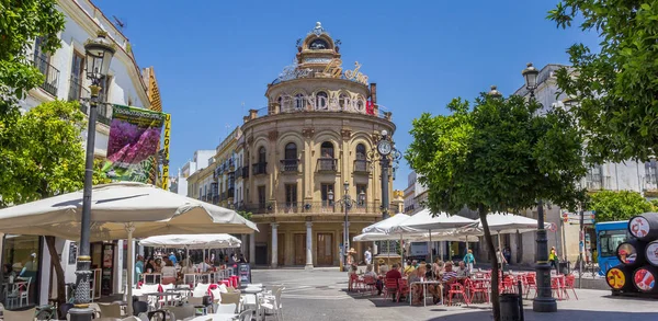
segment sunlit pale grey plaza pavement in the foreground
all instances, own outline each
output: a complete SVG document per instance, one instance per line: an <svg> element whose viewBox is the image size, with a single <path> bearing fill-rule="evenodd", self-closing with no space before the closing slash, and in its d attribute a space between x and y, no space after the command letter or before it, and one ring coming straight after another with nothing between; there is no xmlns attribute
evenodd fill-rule
<svg viewBox="0 0 658 321"><path fill-rule="evenodd" d="M286 321L492 319L491 309L486 305L410 307L408 302L396 303L383 297L347 293L347 274L338 268L254 270L252 273L254 283L285 285L282 300ZM658 320L658 300L611 297L608 290L576 291L579 300L558 301L557 313L535 313L532 301L524 301L525 320Z"/></svg>

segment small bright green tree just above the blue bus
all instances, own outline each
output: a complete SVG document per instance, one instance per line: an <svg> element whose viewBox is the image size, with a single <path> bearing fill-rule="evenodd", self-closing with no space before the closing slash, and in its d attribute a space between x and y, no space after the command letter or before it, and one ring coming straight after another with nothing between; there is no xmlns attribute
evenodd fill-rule
<svg viewBox="0 0 658 321"><path fill-rule="evenodd" d="M614 221L651 211L654 206L636 192L601 191L590 196L589 209L597 211L597 221Z"/></svg>

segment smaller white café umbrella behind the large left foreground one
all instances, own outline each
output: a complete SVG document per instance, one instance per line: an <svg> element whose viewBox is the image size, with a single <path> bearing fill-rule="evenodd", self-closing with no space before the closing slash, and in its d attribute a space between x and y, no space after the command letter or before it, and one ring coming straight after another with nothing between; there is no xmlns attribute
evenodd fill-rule
<svg viewBox="0 0 658 321"><path fill-rule="evenodd" d="M150 237L139 241L143 247L204 250L239 248L242 242L229 234L173 234Z"/></svg>

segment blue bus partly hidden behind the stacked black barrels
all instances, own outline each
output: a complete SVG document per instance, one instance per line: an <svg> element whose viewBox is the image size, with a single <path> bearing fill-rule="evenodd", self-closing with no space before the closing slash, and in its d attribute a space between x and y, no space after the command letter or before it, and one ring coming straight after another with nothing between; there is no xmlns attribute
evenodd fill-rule
<svg viewBox="0 0 658 321"><path fill-rule="evenodd" d="M608 270L620 264L616 248L631 238L628 221L598 222L597 231L597 259L599 260L599 275L605 275Z"/></svg>

